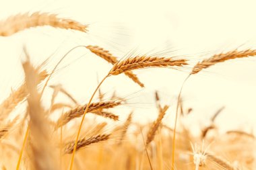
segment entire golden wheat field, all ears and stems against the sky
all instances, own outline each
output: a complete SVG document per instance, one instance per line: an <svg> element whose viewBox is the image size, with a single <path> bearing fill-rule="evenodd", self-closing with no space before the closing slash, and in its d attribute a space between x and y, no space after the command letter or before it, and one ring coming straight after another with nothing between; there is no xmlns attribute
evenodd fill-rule
<svg viewBox="0 0 256 170"><path fill-rule="evenodd" d="M90 26L58 13L28 11L1 20L0 37L15 39L16 34L30 34L33 29L40 31L45 27L59 34L90 35L94 29ZM87 44L65 49L65 54L53 65L54 56L34 62L30 47L23 45L20 63L24 79L0 100L1 169L256 169L253 132L243 128L220 132L216 119L225 110L223 106L212 111L207 126L195 134L187 124L195 115L193 105L188 107L183 98L189 80L216 65L232 65L232 60L239 63L254 58L256 49L233 48L195 60L187 54L137 54L133 49L123 56L115 56L112 49ZM53 82L56 74L65 78L60 65L77 49L86 50L86 54L97 57L99 64L106 62L109 68L103 77L93 75L98 82L88 89L85 102L65 89L65 84ZM139 70L154 69L184 71L186 77L172 103L164 101L166 96L154 90L150 95L154 101L151 105L157 116L143 123L135 120L141 103L129 101L129 97L137 96L129 89L125 89L129 95L117 93L115 79L123 75L125 81L146 91L147 84L140 79ZM88 79L87 74L92 75L87 71L73 76L95 81ZM108 79L114 80L112 84ZM104 91L107 83L113 86L112 91ZM193 91L193 87L190 89ZM45 91L50 91L49 97L44 96ZM171 125L164 121L170 114L174 122Z"/></svg>

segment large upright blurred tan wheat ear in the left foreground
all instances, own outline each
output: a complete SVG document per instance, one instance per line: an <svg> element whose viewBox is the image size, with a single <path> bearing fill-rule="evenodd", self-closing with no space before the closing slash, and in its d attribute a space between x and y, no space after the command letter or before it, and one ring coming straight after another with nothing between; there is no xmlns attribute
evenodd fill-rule
<svg viewBox="0 0 256 170"><path fill-rule="evenodd" d="M23 63L26 87L28 89L28 114L30 116L30 149L32 169L56 169L54 147L49 138L49 126L40 105L37 91L38 74L29 60Z"/></svg>

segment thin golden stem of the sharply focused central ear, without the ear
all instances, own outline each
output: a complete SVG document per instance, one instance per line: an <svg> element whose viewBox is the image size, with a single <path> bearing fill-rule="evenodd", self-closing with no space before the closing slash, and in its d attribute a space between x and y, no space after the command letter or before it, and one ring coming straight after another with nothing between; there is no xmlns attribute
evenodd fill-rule
<svg viewBox="0 0 256 170"><path fill-rule="evenodd" d="M74 145L74 148L73 148L73 153L72 153L72 157L71 157L71 164L70 164L70 167L69 169L72 170L72 167L73 167L73 161L75 159L75 151L76 151L76 147L77 147L77 142L78 142L78 139L79 139L79 134L81 132L81 129L82 129L82 125L83 125L83 122L84 122L84 118L86 116L86 113L88 112L88 109L89 109L89 106L90 106L90 103L92 102L92 99L94 97L94 95L96 94L96 91L98 91L98 88L100 87L100 85L102 85L103 81L109 76L106 75L106 77L104 77L102 79L102 81L100 81L100 84L98 84L98 86L96 87L96 89L94 90L94 93L92 94L92 97L90 98L87 106L86 106L86 110L84 111L84 114L83 114L83 117L82 117L82 120L81 120L81 123L79 125L79 128L78 128L78 132L77 132L77 136L76 136L76 139L75 139L75 145Z"/></svg>

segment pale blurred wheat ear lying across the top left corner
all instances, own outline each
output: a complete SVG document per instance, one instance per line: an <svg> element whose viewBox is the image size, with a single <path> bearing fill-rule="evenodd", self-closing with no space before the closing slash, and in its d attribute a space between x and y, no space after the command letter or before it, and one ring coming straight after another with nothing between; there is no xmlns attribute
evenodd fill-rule
<svg viewBox="0 0 256 170"><path fill-rule="evenodd" d="M51 26L53 28L63 28L77 30L79 32L87 32L88 26L76 22L73 19L57 17L57 14L51 13L23 13L13 15L0 22L0 36L11 36L22 30L38 27Z"/></svg>

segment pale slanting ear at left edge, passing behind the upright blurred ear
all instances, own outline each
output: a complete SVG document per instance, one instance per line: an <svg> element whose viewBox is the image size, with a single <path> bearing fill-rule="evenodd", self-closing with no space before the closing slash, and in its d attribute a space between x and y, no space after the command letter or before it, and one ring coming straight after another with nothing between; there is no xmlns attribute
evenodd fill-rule
<svg viewBox="0 0 256 170"><path fill-rule="evenodd" d="M36 84L41 83L47 76L47 72L40 71L36 69L36 73L38 73L38 79ZM26 83L23 83L17 90L12 91L11 94L1 103L0 105L0 121L5 120L7 116L15 109L15 107L24 101L28 96L28 90L26 89Z"/></svg>

